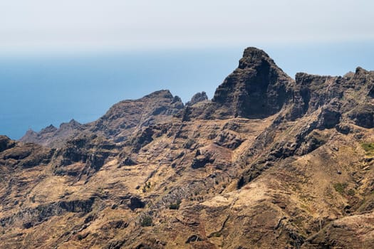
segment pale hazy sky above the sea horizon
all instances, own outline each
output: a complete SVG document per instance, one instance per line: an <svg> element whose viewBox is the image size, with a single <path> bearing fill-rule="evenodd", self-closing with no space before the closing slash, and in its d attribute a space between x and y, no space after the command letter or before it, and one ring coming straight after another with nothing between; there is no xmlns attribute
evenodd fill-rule
<svg viewBox="0 0 374 249"><path fill-rule="evenodd" d="M2 0L0 52L374 40L368 0Z"/></svg>

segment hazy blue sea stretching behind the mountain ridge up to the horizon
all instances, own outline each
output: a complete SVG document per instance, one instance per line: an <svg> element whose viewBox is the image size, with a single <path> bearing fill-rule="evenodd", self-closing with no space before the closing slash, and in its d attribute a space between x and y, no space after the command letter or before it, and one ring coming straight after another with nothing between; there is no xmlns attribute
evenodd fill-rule
<svg viewBox="0 0 374 249"><path fill-rule="evenodd" d="M343 75L360 65L374 70L373 43L265 46L294 78L303 71ZM212 97L238 65L244 48L51 53L0 56L0 134L19 139L75 119L91 122L111 105L168 89L187 102L196 92ZM0 54L1 55L1 54Z"/></svg>

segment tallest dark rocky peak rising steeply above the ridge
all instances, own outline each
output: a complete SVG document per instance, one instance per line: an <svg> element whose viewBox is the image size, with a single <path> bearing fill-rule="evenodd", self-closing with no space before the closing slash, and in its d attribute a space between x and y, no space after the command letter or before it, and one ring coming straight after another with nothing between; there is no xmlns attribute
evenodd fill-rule
<svg viewBox="0 0 374 249"><path fill-rule="evenodd" d="M239 67L214 93L224 117L264 118L281 110L293 80L264 51L246 48Z"/></svg>

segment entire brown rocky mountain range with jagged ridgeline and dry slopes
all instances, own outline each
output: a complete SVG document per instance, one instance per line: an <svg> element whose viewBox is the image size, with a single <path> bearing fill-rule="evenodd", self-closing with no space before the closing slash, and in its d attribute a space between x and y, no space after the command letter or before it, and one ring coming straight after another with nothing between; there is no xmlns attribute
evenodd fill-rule
<svg viewBox="0 0 374 249"><path fill-rule="evenodd" d="M246 48L212 100L0 136L0 248L374 248L373 97Z"/></svg>

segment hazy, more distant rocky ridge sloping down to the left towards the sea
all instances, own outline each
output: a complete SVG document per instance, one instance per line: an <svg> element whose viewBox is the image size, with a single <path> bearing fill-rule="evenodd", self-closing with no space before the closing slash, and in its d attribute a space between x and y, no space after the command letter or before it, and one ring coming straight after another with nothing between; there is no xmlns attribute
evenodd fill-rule
<svg viewBox="0 0 374 249"><path fill-rule="evenodd" d="M79 124L71 120L61 124L58 129L51 124L38 133L28 130L20 141L58 148L78 134L94 133L120 142L127 139L135 129L167 120L183 107L180 97L173 97L169 90L160 90L139 100L118 102L95 122Z"/></svg>

